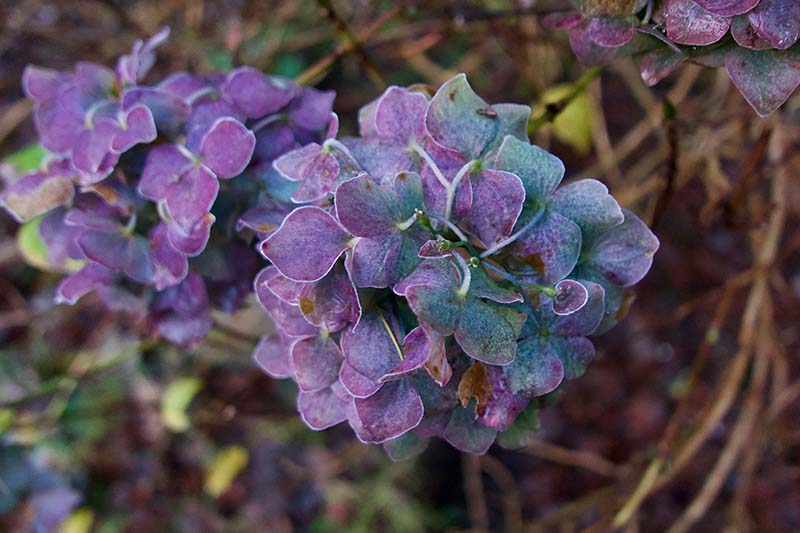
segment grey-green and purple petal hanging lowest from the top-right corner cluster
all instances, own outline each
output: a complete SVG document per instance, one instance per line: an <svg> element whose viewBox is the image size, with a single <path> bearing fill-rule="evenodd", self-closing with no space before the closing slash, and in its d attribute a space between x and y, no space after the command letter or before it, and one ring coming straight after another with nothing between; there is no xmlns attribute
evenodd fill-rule
<svg viewBox="0 0 800 533"><path fill-rule="evenodd" d="M778 109L800 85L800 54L792 50L735 47L725 57L731 81L756 113Z"/></svg>

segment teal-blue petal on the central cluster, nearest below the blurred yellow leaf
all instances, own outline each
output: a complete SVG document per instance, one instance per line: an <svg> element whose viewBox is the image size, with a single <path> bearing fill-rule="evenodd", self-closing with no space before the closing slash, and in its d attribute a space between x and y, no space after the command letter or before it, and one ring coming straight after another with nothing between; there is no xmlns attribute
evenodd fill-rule
<svg viewBox="0 0 800 533"><path fill-rule="evenodd" d="M528 199L544 202L564 178L564 163L535 144L507 136L498 149L494 168L516 174Z"/></svg>

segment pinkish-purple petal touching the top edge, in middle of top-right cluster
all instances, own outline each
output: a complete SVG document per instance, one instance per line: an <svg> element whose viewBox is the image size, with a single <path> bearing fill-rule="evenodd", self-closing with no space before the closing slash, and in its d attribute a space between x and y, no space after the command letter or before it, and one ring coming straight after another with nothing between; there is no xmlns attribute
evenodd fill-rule
<svg viewBox="0 0 800 533"><path fill-rule="evenodd" d="M730 17L706 11L694 0L667 0L664 16L667 36L678 44L713 44L731 27Z"/></svg>

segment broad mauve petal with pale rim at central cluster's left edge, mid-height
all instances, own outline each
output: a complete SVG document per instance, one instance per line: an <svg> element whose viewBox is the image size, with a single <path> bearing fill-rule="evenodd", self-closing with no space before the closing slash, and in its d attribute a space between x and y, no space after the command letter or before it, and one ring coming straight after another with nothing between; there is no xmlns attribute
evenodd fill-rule
<svg viewBox="0 0 800 533"><path fill-rule="evenodd" d="M292 211L260 248L287 278L317 281L333 268L350 239L330 214L308 206Z"/></svg>

